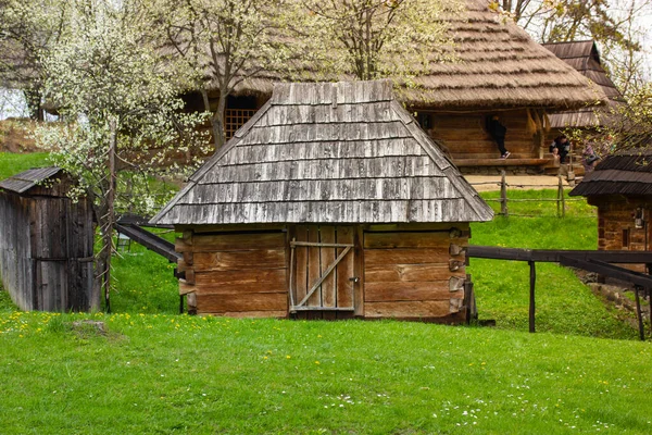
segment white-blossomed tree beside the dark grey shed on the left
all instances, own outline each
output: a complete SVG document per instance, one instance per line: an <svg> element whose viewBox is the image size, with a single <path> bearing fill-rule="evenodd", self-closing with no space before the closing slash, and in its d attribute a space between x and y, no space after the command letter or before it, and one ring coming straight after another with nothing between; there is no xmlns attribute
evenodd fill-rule
<svg viewBox="0 0 652 435"><path fill-rule="evenodd" d="M123 199L137 211L155 208L151 176L177 169L166 165L165 151L195 138L187 127L199 115L179 114L176 72L148 45L138 1L70 5L70 27L43 59L46 95L68 122L42 126L38 137L54 163L79 179L76 192L93 203L102 241L97 282L110 310L116 210Z"/></svg>

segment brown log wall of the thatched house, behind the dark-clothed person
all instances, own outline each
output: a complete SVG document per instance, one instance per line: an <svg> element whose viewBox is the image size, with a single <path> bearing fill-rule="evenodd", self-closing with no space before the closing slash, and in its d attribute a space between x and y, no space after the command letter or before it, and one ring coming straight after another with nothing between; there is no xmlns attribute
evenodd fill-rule
<svg viewBox="0 0 652 435"><path fill-rule="evenodd" d="M510 159L538 159L539 145L527 128L527 112L513 110L496 112L507 128L505 148ZM498 159L500 152L496 141L486 129L487 116L491 113L432 113L432 125L427 133L442 140L453 160Z"/></svg>

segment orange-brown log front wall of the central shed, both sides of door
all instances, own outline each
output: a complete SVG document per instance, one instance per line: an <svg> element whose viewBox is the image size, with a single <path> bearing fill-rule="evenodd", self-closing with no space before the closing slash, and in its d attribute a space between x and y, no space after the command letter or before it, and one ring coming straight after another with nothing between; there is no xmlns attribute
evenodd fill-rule
<svg viewBox="0 0 652 435"><path fill-rule="evenodd" d="M341 270L328 275L309 299L306 307L318 309L298 313L300 319L354 315L455 323L465 320L464 248L469 237L466 223L455 223L455 227L450 224L372 225L366 231L360 225L298 225L287 232L201 233L198 229L201 231L201 226L186 229L184 237L176 241L176 249L184 257L178 269L186 276L180 279L179 290L188 296L191 312L288 316L290 240L305 239L313 244L352 243L355 248L353 254L338 265ZM338 251L330 249L331 254L325 258L327 248L296 248L297 295L293 296L297 301L335 259ZM316 254L311 256L311 252ZM353 284L350 278L355 275L360 281ZM353 293L348 291L351 288ZM354 312L335 312L336 308L352 303ZM329 312L328 307L333 307L334 312Z"/></svg>

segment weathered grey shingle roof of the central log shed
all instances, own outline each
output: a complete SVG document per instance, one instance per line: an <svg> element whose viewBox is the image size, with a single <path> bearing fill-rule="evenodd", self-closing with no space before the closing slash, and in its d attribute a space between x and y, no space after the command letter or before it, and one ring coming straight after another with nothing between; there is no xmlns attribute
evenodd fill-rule
<svg viewBox="0 0 652 435"><path fill-rule="evenodd" d="M156 224L401 223L493 216L389 82L277 84Z"/></svg>

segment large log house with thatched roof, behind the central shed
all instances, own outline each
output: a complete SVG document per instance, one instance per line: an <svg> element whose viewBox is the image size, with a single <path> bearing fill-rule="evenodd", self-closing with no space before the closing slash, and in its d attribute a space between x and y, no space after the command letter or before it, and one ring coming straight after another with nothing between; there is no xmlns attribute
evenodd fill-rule
<svg viewBox="0 0 652 435"><path fill-rule="evenodd" d="M464 11L442 17L454 35L451 51L456 60L431 62L428 73L414 77L411 86L398 86L397 98L411 113L417 113L424 130L444 147L464 173L496 173L500 169L540 173L552 162L547 139L549 116L603 104L604 91L515 23L503 23L486 0L465 3ZM301 76L310 79L311 74ZM227 137L269 98L275 82L286 79L263 72L242 82L227 104ZM189 96L188 102L191 108L203 108L199 96ZM492 114L499 114L507 128L509 159L499 159L497 145L486 130L486 120Z"/></svg>

